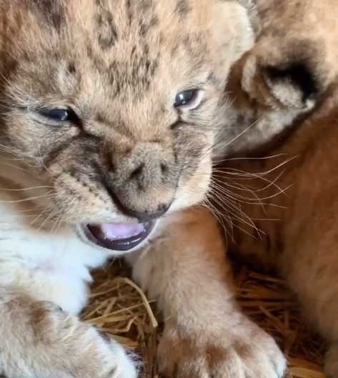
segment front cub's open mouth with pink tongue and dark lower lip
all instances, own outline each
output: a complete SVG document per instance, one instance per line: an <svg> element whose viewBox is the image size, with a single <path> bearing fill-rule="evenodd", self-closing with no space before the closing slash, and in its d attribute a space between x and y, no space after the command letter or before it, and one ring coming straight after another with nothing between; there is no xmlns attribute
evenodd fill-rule
<svg viewBox="0 0 338 378"><path fill-rule="evenodd" d="M117 256L144 247L159 221L80 224L76 226L76 233L85 243Z"/></svg>

